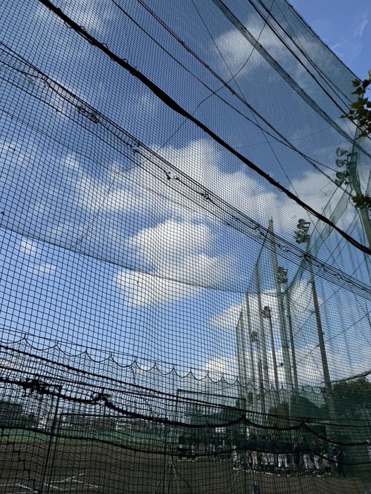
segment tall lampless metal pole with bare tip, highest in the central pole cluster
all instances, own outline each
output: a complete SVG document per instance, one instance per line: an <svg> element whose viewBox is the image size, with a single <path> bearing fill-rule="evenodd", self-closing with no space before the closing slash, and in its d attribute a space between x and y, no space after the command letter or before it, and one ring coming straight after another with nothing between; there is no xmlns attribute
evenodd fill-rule
<svg viewBox="0 0 371 494"><path fill-rule="evenodd" d="M277 260L277 249L275 242L275 232L273 230L273 220L269 220L268 232L270 232L270 244L272 246L272 267L273 267L273 276L275 278L275 286L277 293L277 303L278 303L278 315L279 315L279 329L281 335L281 344L282 344L282 360L284 367L284 376L286 379L287 386L289 391L293 388L292 383L292 374L291 374L291 361L290 361L290 350L289 350L289 342L287 341L287 328L286 322L284 319L284 304L282 300L282 291L281 285L278 281L278 260Z"/></svg>

